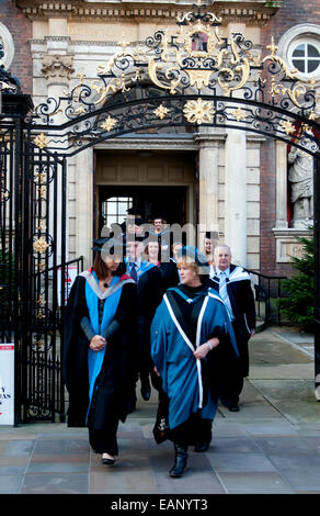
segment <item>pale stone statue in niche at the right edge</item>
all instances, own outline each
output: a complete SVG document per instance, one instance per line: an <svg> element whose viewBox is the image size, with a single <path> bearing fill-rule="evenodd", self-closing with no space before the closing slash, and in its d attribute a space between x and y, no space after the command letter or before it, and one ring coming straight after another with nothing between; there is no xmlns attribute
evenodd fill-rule
<svg viewBox="0 0 320 516"><path fill-rule="evenodd" d="M302 141L304 147L311 148L312 141L307 137ZM290 182L294 216L292 227L307 229L313 220L313 159L312 156L300 148L292 147L288 154L292 164L288 172Z"/></svg>

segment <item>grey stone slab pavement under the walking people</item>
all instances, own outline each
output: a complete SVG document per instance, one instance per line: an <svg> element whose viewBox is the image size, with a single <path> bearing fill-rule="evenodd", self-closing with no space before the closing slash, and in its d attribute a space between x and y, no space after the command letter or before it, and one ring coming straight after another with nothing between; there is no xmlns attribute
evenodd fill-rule
<svg viewBox="0 0 320 516"><path fill-rule="evenodd" d="M253 337L250 355L240 412L219 406L210 448L190 449L182 479L168 474L172 444L152 437L153 392L121 425L114 468L90 450L87 429L0 427L0 494L320 494L312 336L267 328Z"/></svg>

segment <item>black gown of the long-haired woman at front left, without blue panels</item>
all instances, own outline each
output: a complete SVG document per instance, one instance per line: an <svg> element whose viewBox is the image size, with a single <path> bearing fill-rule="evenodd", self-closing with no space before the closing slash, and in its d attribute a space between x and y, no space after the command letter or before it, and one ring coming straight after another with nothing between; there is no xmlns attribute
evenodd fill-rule
<svg viewBox="0 0 320 516"><path fill-rule="evenodd" d="M137 357L137 288L124 284L115 313L119 329L107 339L101 372L95 381L96 394L85 423L89 406L89 340L80 326L89 317L85 278L78 276L68 300L64 343L64 377L69 393L68 426L107 427L110 418L125 422L134 396Z"/></svg>

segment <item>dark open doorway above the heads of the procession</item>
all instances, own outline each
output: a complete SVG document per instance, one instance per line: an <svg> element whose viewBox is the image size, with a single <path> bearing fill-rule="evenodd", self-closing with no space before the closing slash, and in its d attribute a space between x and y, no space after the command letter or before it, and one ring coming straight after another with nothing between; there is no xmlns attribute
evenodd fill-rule
<svg viewBox="0 0 320 516"><path fill-rule="evenodd" d="M162 214L168 224L184 225L187 187L99 187L99 235L103 225L124 222L128 207L148 221Z"/></svg>

